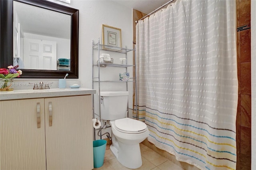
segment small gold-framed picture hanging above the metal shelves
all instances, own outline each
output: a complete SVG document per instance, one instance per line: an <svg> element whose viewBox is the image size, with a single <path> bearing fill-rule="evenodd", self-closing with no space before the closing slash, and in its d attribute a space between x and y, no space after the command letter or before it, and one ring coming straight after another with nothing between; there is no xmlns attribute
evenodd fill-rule
<svg viewBox="0 0 256 170"><path fill-rule="evenodd" d="M103 49L120 50L122 47L121 29L102 24L102 45Z"/></svg>

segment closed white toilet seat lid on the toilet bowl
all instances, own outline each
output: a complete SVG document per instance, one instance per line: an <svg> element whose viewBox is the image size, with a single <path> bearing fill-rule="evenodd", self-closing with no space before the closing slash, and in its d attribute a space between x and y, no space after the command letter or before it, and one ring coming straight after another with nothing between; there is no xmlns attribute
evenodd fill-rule
<svg viewBox="0 0 256 170"><path fill-rule="evenodd" d="M130 118L115 120L115 127L116 130L129 134L138 134L147 130L145 123Z"/></svg>

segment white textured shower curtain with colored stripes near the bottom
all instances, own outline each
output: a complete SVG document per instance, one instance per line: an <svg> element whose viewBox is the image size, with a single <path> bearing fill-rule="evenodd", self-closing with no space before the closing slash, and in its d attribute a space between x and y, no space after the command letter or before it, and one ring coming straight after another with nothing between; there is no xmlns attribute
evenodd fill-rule
<svg viewBox="0 0 256 170"><path fill-rule="evenodd" d="M136 25L138 119L200 169L236 169L235 3L177 0Z"/></svg>

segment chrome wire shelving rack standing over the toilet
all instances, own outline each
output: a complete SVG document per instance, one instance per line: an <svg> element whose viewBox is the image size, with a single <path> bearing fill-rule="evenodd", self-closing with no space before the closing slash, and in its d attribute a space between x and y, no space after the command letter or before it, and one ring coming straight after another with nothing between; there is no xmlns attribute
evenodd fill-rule
<svg viewBox="0 0 256 170"><path fill-rule="evenodd" d="M126 58L126 64L117 64L117 63L100 63L98 62L98 64L94 64L94 51L97 51L98 53L98 61L100 61L100 51L109 51L110 53L112 52L116 52L116 53L120 53L122 55L125 55ZM131 51L135 51L135 65L128 65L127 64L127 53L131 52ZM97 77L95 77L94 75L94 67L98 67L98 75ZM105 68L104 68L105 67ZM97 115L100 118L101 121L101 108L100 108L100 84L102 82L112 82L112 83L126 83L126 91L128 91L128 83L129 82L134 82L135 83L135 99L134 99L134 103L136 105L135 109L134 108L128 108L128 109L132 109L133 111L136 111L136 117L138 119L138 108L137 108L137 84L136 84L136 74L135 77L132 77L129 81L111 81L111 80L104 80L102 81L100 78L100 72L101 69L106 69L106 67L123 67L126 70L127 73L127 68L128 67L135 67L135 73L136 73L136 47L135 49L128 49L128 48L123 48L123 47L115 47L115 46L111 46L111 45L103 45L100 44L100 38L98 38L98 43L94 43L94 40L92 40L92 88L94 89L94 83L98 83L98 94L99 95L99 113L95 113L95 105L94 105L94 95L92 96L92 100L93 100L93 118L95 118L95 115ZM94 138L96 138L96 132L94 130ZM102 139L102 128L100 128L100 139Z"/></svg>

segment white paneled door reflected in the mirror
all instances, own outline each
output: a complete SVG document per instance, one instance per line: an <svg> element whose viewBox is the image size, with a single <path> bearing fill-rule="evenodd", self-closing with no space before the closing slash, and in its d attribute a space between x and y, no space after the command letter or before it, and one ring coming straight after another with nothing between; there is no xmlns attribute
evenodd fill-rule
<svg viewBox="0 0 256 170"><path fill-rule="evenodd" d="M57 69L57 43L24 38L24 69Z"/></svg>

